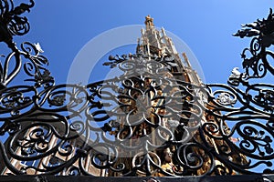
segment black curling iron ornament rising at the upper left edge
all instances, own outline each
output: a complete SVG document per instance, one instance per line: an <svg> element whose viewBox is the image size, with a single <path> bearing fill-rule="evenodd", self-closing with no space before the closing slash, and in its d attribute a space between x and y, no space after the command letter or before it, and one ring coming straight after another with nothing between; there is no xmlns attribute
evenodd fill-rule
<svg viewBox="0 0 274 182"><path fill-rule="evenodd" d="M0 42L5 44L12 50L5 57L4 64L0 65L0 80L1 87L8 85L18 74L22 67L22 56L29 61L24 64L24 69L28 76L33 76L38 85L45 82L53 83L53 77L49 76L47 58L40 56L42 49L39 44L23 43L21 50L16 47L13 40L14 35L26 35L29 31L29 23L26 16L20 16L25 12L29 12L30 8L35 5L33 0L30 4L22 3L15 6L12 0L1 0L0 4ZM15 57L15 65L13 70L10 70L12 59Z"/></svg>

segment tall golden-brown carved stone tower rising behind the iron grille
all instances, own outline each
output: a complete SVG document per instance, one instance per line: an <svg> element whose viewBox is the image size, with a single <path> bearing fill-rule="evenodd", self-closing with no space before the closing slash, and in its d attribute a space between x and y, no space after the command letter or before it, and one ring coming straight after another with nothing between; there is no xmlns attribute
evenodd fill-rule
<svg viewBox="0 0 274 182"><path fill-rule="evenodd" d="M218 148L227 144L199 130L206 122L218 121L203 112L207 106L206 96L199 89L203 83L186 54L182 53L182 60L173 40L163 28L155 28L150 15L144 24L135 55L110 57L113 63L132 68L122 76L124 84L118 96L124 116L117 117L118 126L111 131L122 143L118 148L124 157L119 161L127 170L110 172L109 176L203 175L213 165L213 158L199 145L206 141L218 153ZM229 130L226 124L224 127ZM208 128L213 132L214 127ZM230 160L236 158L232 155Z"/></svg>

